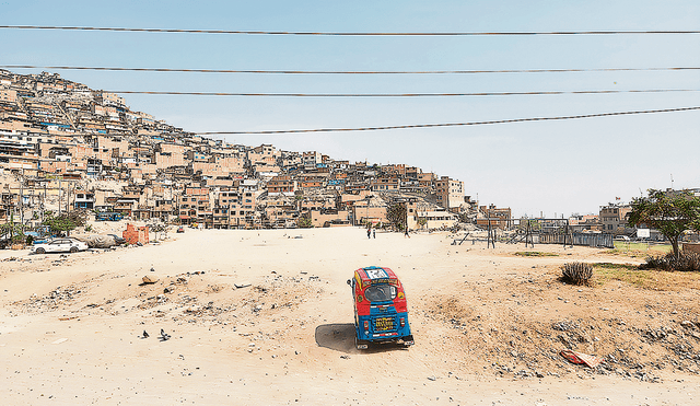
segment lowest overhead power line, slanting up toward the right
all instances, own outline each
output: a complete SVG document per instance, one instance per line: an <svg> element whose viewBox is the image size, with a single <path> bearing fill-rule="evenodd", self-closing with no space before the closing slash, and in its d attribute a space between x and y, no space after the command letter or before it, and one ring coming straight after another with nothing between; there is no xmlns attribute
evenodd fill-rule
<svg viewBox="0 0 700 406"><path fill-rule="evenodd" d="M205 132L196 132L196 134L201 136L217 136L217 135L275 135L275 134L303 134L303 132L377 131L377 130L395 130L395 129L411 129L411 128L485 126L485 125L526 123L526 121L552 121L552 120L581 119L581 118L594 118L594 117L629 116L629 115L637 115L637 114L689 112L689 111L699 111L699 109L700 109L700 106L693 106L693 107L676 107L676 108L662 108L662 109L648 109L648 111L633 111L633 112L580 114L574 116L511 118L511 119L489 120L489 121L411 124L411 125L404 125L404 126L359 127L359 128L316 128L316 129L267 130L267 131L205 131Z"/></svg>

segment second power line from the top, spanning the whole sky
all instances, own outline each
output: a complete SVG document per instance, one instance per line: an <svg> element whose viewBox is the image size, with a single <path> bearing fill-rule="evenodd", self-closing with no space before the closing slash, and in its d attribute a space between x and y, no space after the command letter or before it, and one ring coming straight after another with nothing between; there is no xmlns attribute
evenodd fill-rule
<svg viewBox="0 0 700 406"><path fill-rule="evenodd" d="M478 73L560 73L560 72L635 72L635 71L682 71L700 70L700 67L672 68L591 68L591 69L471 69L471 70L262 70L262 69L173 69L173 68L120 68L120 67L75 67L0 65L7 69L57 69L57 70L104 70L129 72L180 72L180 73L271 73L271 74L478 74Z"/></svg>

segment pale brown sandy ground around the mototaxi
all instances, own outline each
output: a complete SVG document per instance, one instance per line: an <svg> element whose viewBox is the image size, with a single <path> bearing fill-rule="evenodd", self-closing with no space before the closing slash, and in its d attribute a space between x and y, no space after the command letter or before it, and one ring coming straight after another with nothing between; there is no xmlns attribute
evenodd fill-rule
<svg viewBox="0 0 700 406"><path fill-rule="evenodd" d="M697 276L602 271L575 287L558 279L567 262L641 258L451 242L188 229L142 247L0 252L2 404L697 404ZM401 278L413 347L354 349L346 280L370 265ZM573 366L567 348L606 361Z"/></svg>

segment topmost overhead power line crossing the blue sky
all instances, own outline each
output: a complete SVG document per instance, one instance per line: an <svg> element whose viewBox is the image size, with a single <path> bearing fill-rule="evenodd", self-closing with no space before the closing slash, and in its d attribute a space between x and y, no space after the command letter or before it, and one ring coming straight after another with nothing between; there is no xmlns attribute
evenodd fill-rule
<svg viewBox="0 0 700 406"><path fill-rule="evenodd" d="M244 34L244 35L324 35L324 36L525 36L525 35L646 35L646 34L700 34L700 31L681 30L629 30L629 31L503 31L503 32L306 32L306 31L242 31L242 30L177 30L177 28L129 28L96 26L52 25L0 25L8 30L61 30L61 31L110 31L131 33L184 33L184 34Z"/></svg>

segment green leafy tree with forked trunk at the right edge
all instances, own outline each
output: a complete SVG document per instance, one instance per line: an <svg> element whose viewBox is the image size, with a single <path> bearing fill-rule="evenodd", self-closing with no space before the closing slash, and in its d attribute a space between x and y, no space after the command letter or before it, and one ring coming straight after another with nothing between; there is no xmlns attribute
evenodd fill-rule
<svg viewBox="0 0 700 406"><path fill-rule="evenodd" d="M649 197L634 198L629 214L630 227L646 224L658 230L678 257L678 241L688 230L700 231L700 198L687 192L649 189Z"/></svg>

